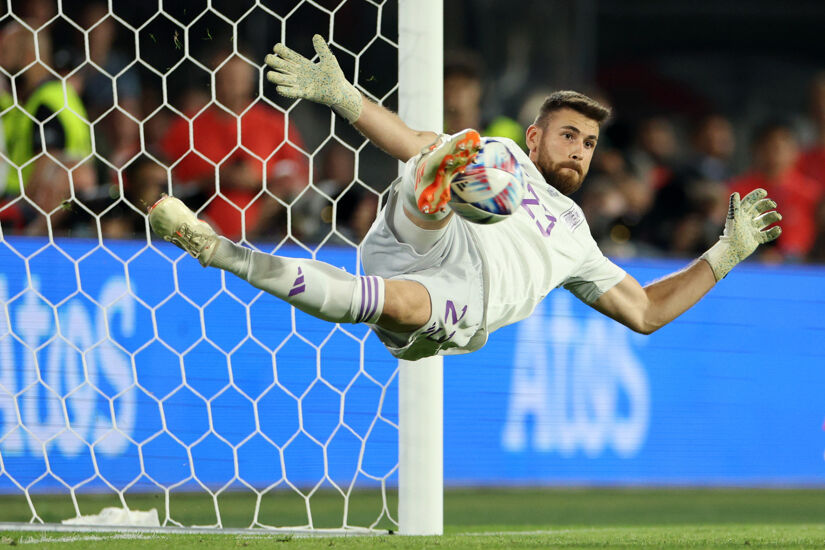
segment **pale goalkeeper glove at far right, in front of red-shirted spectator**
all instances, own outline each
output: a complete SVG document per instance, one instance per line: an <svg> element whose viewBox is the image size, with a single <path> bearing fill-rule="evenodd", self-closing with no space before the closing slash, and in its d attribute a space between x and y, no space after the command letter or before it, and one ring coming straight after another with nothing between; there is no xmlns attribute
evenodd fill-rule
<svg viewBox="0 0 825 550"><path fill-rule="evenodd" d="M739 200L739 193L730 196L725 230L719 241L702 254L720 281L733 267L750 256L760 244L771 242L781 233L778 225L765 229L782 219L774 210L776 203L766 198L768 192L755 189Z"/></svg>

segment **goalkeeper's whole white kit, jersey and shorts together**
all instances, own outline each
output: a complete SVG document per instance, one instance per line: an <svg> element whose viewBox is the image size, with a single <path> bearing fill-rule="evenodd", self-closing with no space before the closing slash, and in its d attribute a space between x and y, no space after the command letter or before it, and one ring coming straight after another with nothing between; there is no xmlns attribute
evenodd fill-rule
<svg viewBox="0 0 825 550"><path fill-rule="evenodd" d="M392 221L399 187L414 185L414 157L362 243L366 274L417 281L430 295L430 319L418 330L372 327L396 357L412 361L477 350L490 332L529 316L554 288L564 285L593 303L625 276L596 246L581 209L550 187L512 140L496 139L525 174L526 195L516 213L493 225L455 217L429 250L416 252Z"/></svg>

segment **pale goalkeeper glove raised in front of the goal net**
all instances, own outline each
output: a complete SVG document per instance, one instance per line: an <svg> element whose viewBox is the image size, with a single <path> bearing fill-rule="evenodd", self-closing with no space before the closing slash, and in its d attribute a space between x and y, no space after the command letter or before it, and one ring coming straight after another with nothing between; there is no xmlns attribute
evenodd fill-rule
<svg viewBox="0 0 825 550"><path fill-rule="evenodd" d="M324 38L316 34L312 45L320 58L313 63L301 54L278 43L266 56L266 79L276 85L275 90L284 97L300 97L329 105L336 113L350 122L361 116L361 93L344 77L338 60L329 51Z"/></svg>

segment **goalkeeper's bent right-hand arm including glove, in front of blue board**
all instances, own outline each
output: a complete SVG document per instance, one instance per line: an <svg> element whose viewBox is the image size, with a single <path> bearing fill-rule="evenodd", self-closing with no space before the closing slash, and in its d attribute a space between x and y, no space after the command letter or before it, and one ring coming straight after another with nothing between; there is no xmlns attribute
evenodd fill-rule
<svg viewBox="0 0 825 550"><path fill-rule="evenodd" d="M740 201L730 197L725 230L719 241L687 268L642 287L630 275L593 304L600 312L643 334L663 327L698 302L733 267L782 232L776 203L764 189Z"/></svg>

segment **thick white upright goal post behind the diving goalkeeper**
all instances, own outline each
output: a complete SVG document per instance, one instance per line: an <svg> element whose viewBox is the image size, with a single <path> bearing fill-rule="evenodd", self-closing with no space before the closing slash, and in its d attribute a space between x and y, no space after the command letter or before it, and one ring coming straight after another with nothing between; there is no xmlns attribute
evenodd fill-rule
<svg viewBox="0 0 825 550"><path fill-rule="evenodd" d="M416 129L444 127L443 0L401 0L398 114ZM402 534L444 528L443 359L400 361L398 520Z"/></svg>

